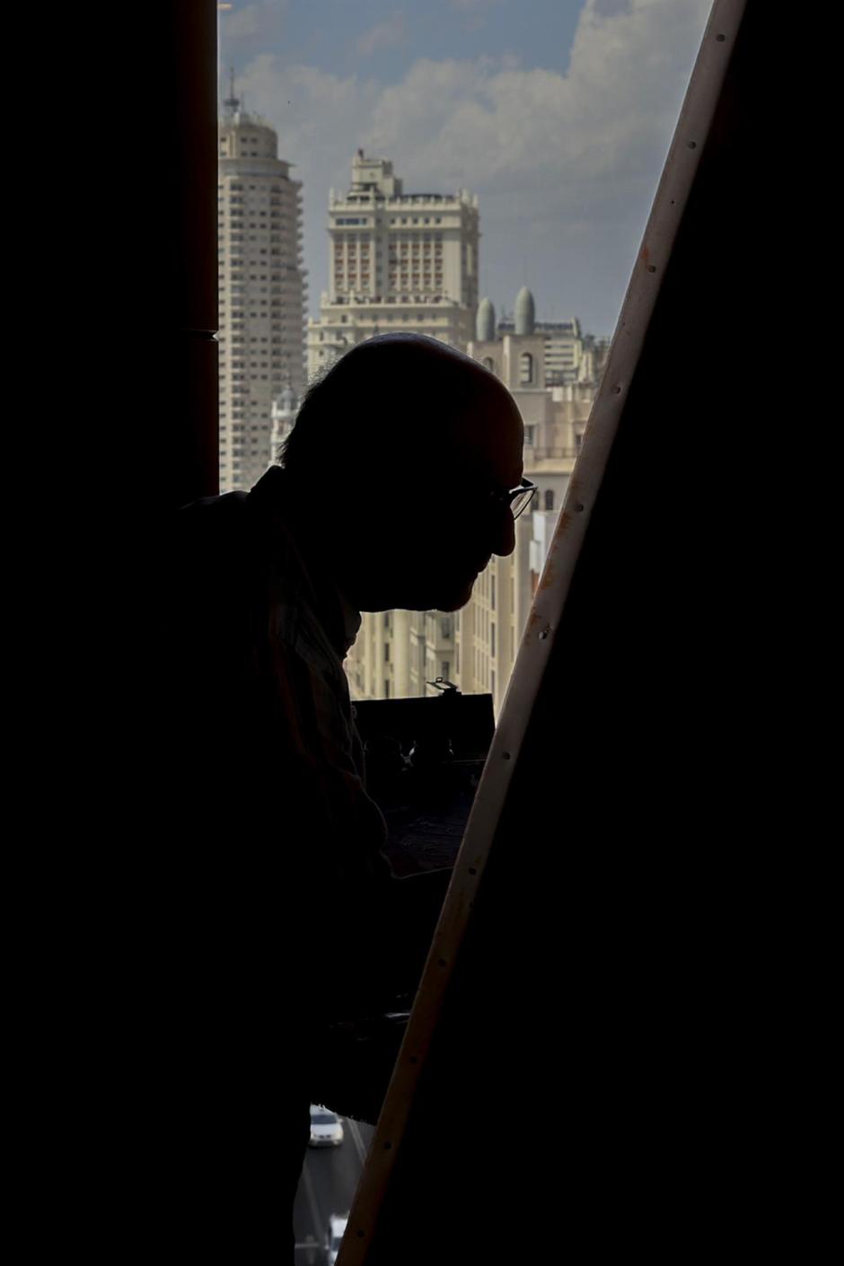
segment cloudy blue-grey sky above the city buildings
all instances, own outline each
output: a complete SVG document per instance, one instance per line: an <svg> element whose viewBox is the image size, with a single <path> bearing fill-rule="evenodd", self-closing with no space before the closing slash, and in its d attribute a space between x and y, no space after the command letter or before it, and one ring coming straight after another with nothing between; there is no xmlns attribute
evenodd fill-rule
<svg viewBox="0 0 844 1266"><path fill-rule="evenodd" d="M414 190L478 195L481 294L501 315L611 334L710 0L232 0L245 109L302 181L311 315L328 285L328 192L352 157Z"/></svg>

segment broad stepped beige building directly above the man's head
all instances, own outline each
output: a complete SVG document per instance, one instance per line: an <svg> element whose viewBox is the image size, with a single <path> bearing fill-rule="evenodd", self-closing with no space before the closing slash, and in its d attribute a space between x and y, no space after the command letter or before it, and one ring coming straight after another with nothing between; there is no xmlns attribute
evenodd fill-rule
<svg viewBox="0 0 844 1266"><path fill-rule="evenodd" d="M329 195L329 289L307 324L307 375L349 347L396 330L466 351L478 287L478 204L467 190L405 194L386 158L352 161L348 192Z"/></svg>

